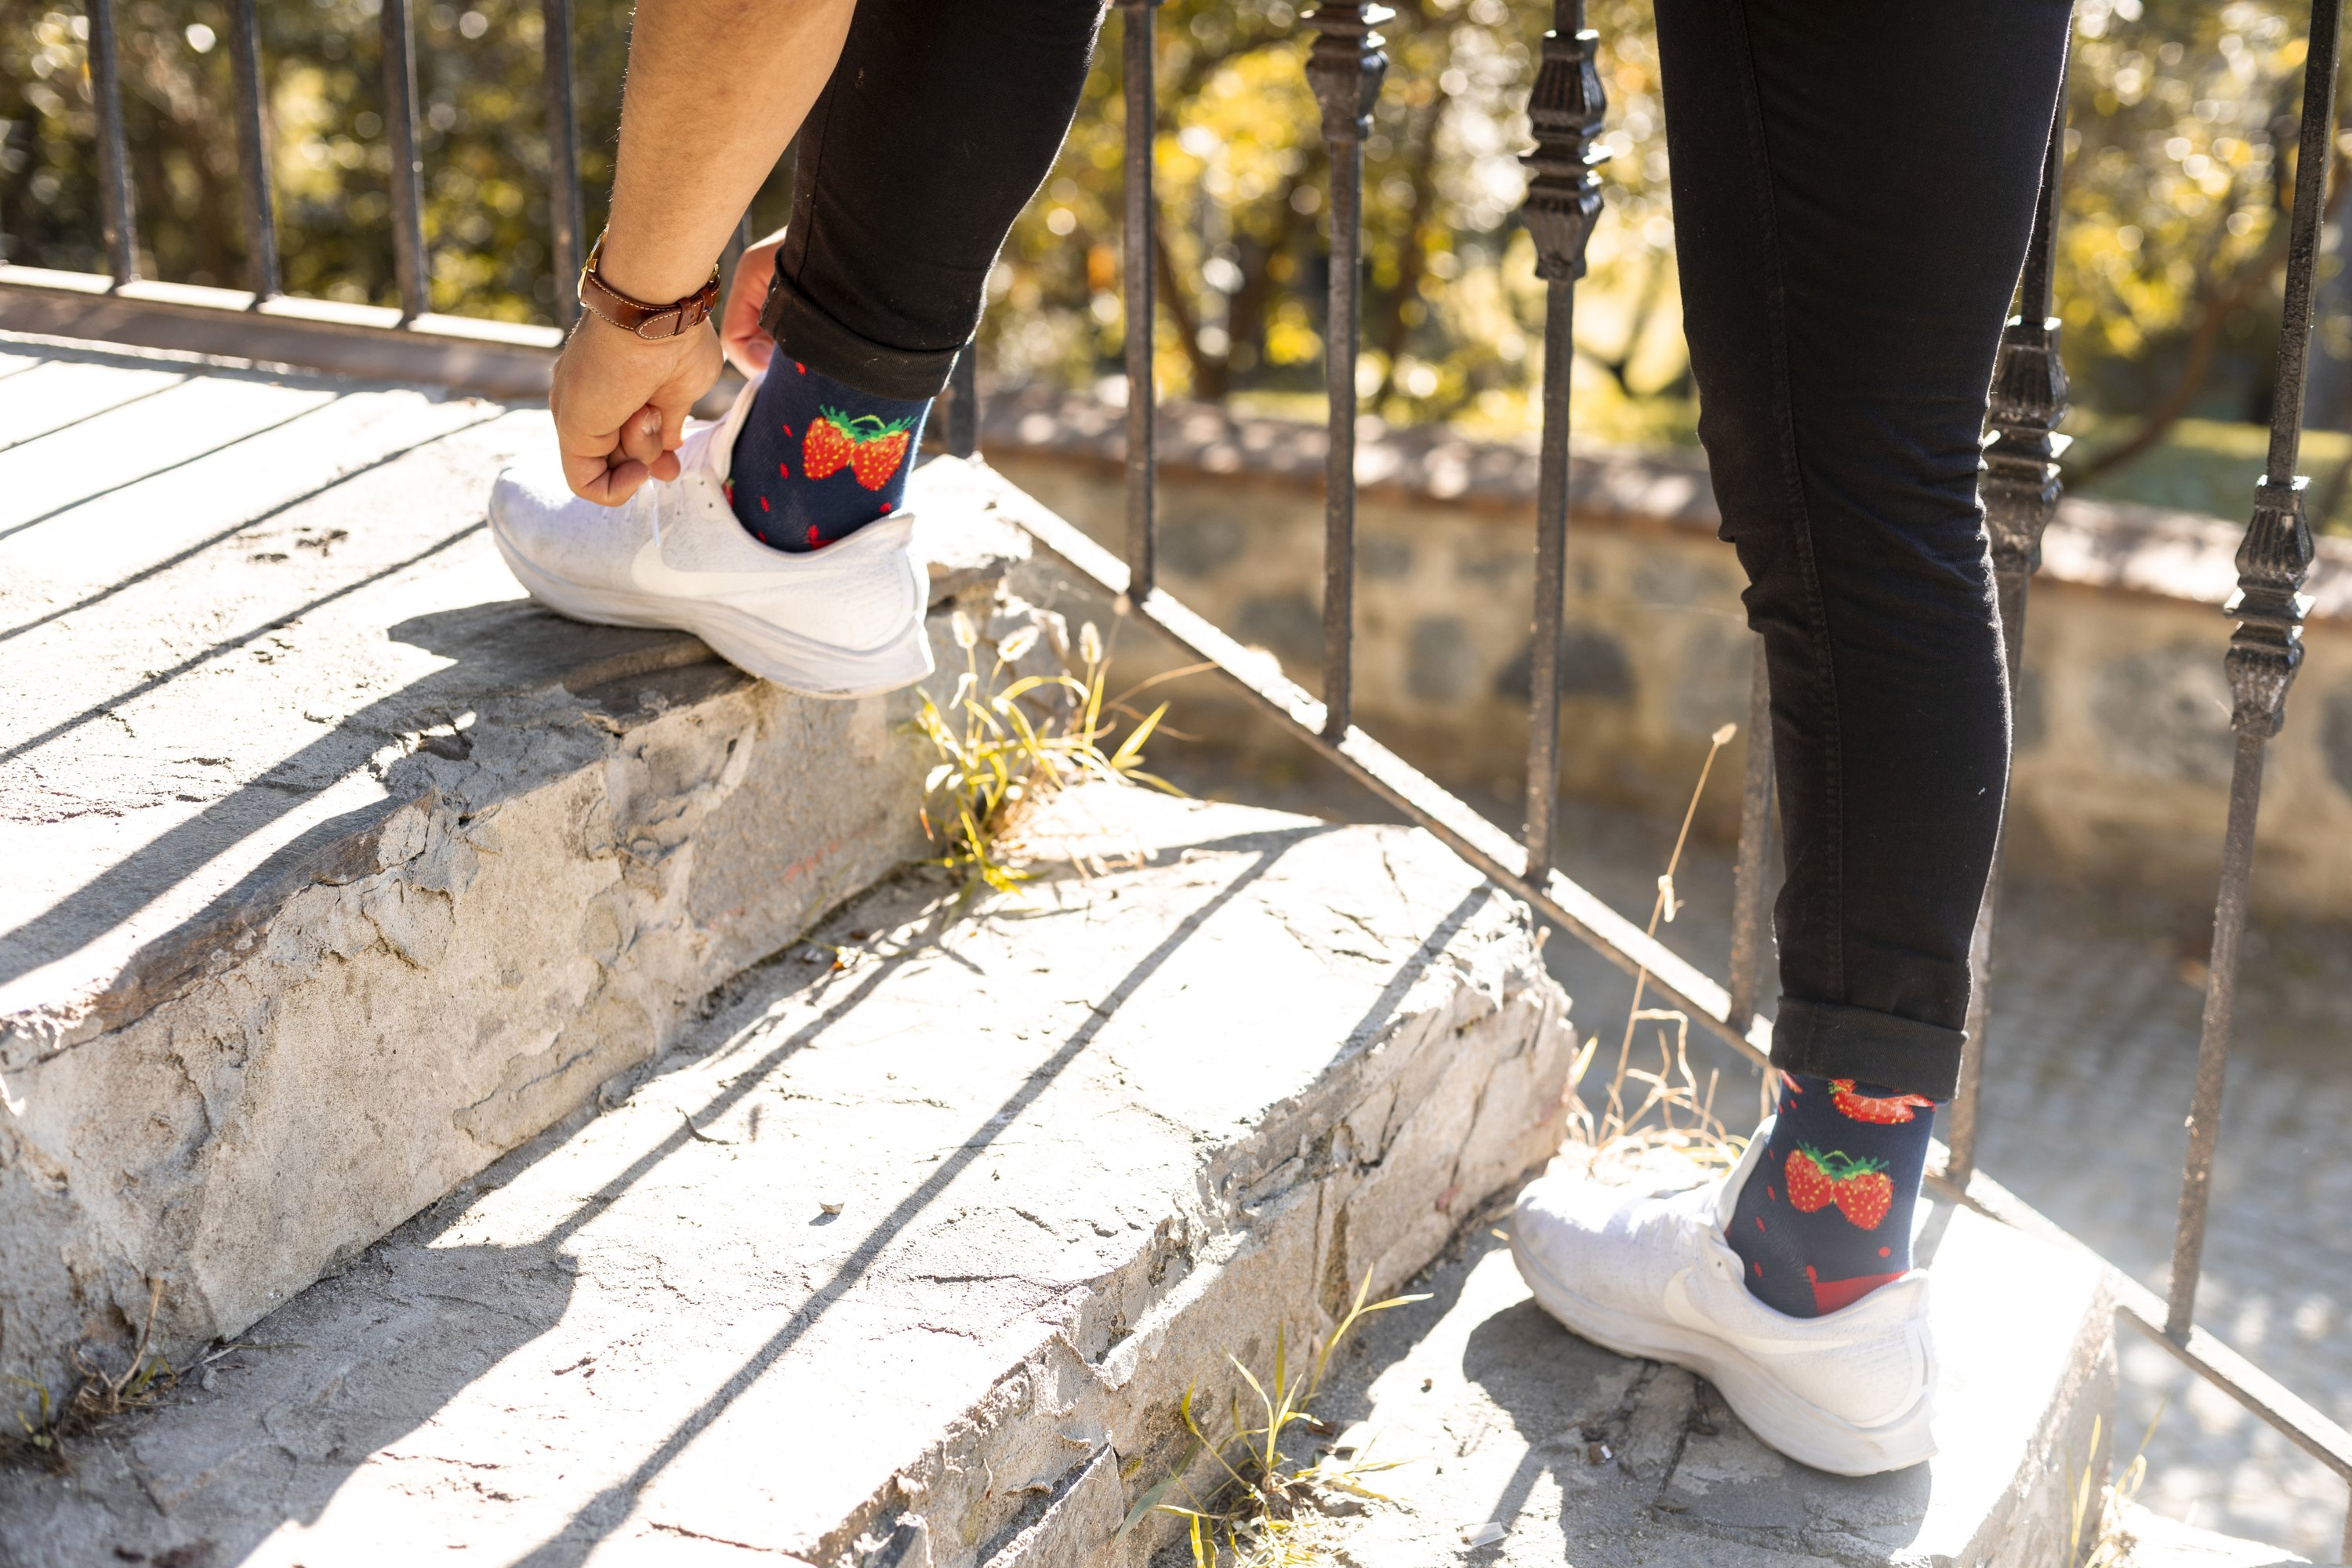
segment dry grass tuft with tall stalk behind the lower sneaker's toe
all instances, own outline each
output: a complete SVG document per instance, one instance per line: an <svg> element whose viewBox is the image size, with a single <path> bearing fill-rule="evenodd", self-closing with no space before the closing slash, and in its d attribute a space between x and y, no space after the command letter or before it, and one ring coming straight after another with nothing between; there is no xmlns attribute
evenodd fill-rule
<svg viewBox="0 0 2352 1568"><path fill-rule="evenodd" d="M1708 790L1708 773L1715 757L1738 733L1738 724L1724 724L1710 736L1708 757L1698 764L1698 783L1691 785L1691 804L1682 813L1682 832L1675 835L1675 851L1658 877L1658 896L1649 905L1649 936L1658 936L1658 922L1672 924L1682 912L1675 896L1675 872L1682 870L1682 851L1691 839L1691 820L1698 816L1698 797ZM1597 1095L1597 1110L1583 1098L1585 1074L1592 1070L1599 1037L1585 1039L1569 1067L1569 1135L1571 1145L1590 1152L1595 1173L1635 1175L1658 1166L1689 1164L1703 1173L1731 1168L1748 1147L1745 1138L1724 1131L1715 1114L1715 1088L1719 1074L1708 1072L1705 1084L1691 1067L1691 1018L1682 1009L1642 1006L1649 987L1649 971L1635 973L1632 1006L1625 1011L1625 1032L1618 1037L1616 1070ZM1653 1025L1649 1044L1656 1046L1656 1065L1649 1053L1635 1056L1642 1025ZM1766 1077L1769 1084L1769 1077Z"/></svg>

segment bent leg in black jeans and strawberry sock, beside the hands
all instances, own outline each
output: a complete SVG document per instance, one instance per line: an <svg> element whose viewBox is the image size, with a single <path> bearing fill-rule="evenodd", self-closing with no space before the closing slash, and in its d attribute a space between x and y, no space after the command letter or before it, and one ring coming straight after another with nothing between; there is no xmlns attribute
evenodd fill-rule
<svg viewBox="0 0 2352 1568"><path fill-rule="evenodd" d="M988 270L1070 129L1101 0L861 0L800 127L776 339L731 456L736 517L781 550L898 505Z"/></svg>

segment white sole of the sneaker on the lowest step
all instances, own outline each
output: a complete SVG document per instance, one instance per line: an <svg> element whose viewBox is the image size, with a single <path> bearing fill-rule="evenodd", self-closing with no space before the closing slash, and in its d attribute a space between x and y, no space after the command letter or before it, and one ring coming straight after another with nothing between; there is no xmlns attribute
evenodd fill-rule
<svg viewBox="0 0 2352 1568"><path fill-rule="evenodd" d="M1724 1403L1748 1422L1750 1432L1799 1465L1839 1476L1877 1476L1936 1458L1931 1432L1933 1363L1926 1389L1907 1410L1875 1427L1860 1427L1795 1394L1738 1345L1679 1324L1632 1316L1578 1295L1529 1258L1517 1237L1510 1241L1510 1255L1519 1265L1519 1279L1536 1293L1536 1302L1555 1319L1621 1356L1672 1361L1698 1373L1722 1392Z"/></svg>

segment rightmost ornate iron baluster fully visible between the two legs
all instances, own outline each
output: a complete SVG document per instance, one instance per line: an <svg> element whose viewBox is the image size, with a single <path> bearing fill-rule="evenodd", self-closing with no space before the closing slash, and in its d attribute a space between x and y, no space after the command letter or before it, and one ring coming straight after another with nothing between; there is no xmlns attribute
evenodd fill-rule
<svg viewBox="0 0 2352 1568"><path fill-rule="evenodd" d="M1559 795L1559 621L1569 590L1569 371L1576 364L1576 280L1602 216L1606 153L1592 150L1609 96L1597 66L1599 33L1583 0L1552 2L1543 63L1526 96L1536 150L1519 209L1543 280L1543 444L1536 461L1536 621L1526 682L1526 875L1552 867Z"/></svg>

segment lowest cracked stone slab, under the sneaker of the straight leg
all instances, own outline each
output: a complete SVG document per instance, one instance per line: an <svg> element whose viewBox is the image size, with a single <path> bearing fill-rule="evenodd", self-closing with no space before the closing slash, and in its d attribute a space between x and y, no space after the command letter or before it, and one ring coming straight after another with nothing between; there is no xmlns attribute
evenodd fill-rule
<svg viewBox="0 0 2352 1568"><path fill-rule="evenodd" d="M1503 1220L1508 1222L1508 1220ZM2107 1472L2114 1319L2096 1269L1966 1211L1926 1206L1940 1453L1832 1476L1755 1439L1700 1378L1630 1361L1545 1314L1496 1227L1374 1319L1317 1413L1399 1467L1345 1519L1355 1568L2044 1568L2070 1479ZM2107 1418L2098 1446L2093 1418ZM1484 1544L1479 1526L1494 1537ZM1181 1561L1162 1554L1160 1568ZM2267 1559L2265 1559L2267 1561Z"/></svg>

